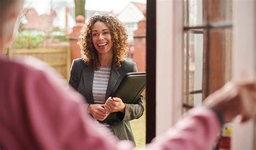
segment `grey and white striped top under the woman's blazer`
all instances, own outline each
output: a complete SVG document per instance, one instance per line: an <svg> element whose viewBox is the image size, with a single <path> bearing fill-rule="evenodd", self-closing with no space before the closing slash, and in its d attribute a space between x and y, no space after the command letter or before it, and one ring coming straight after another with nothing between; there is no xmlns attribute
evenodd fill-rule
<svg viewBox="0 0 256 150"><path fill-rule="evenodd" d="M111 67L100 66L99 70L94 71L92 95L96 104L104 104L107 84L109 83ZM113 129L109 124L100 124L97 120L94 121L95 126L101 129L102 133L109 138L115 139Z"/></svg>

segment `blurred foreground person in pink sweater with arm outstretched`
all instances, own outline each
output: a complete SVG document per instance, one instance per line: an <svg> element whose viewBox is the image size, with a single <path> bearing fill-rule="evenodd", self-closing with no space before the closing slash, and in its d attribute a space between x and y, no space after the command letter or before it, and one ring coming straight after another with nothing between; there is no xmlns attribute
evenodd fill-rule
<svg viewBox="0 0 256 150"><path fill-rule="evenodd" d="M20 0L0 1L1 50L11 42L22 6ZM26 64L0 58L0 149L132 149L95 129L82 96ZM145 149L211 149L223 122L237 115L241 122L255 119L255 93L255 82L227 83Z"/></svg>

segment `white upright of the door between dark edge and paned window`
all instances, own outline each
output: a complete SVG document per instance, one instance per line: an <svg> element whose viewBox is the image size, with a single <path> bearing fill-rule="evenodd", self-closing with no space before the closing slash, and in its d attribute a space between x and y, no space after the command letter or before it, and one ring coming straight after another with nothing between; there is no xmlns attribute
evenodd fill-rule
<svg viewBox="0 0 256 150"><path fill-rule="evenodd" d="M180 117L183 96L183 1L156 0L156 135Z"/></svg>

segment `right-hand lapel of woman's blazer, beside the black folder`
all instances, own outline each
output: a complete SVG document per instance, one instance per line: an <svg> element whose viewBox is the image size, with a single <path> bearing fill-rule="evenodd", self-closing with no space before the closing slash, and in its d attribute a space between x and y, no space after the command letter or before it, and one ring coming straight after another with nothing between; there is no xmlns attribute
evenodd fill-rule
<svg viewBox="0 0 256 150"><path fill-rule="evenodd" d="M119 68L116 66L116 63L112 62L112 67L110 71L109 84L107 84L106 96L105 99L109 98L111 92L113 91L114 86L117 83L117 80L120 76L118 72Z"/></svg>

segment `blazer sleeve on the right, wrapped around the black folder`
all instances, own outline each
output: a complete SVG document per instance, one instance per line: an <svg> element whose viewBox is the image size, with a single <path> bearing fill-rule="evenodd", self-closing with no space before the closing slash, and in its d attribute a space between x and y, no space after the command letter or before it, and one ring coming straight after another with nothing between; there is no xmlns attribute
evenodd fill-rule
<svg viewBox="0 0 256 150"><path fill-rule="evenodd" d="M138 72L137 66L133 63L130 72ZM133 119L138 119L142 117L144 112L144 105L143 105L143 95L140 95L136 103L134 104L125 104L125 114L123 117L124 121L130 121Z"/></svg>

